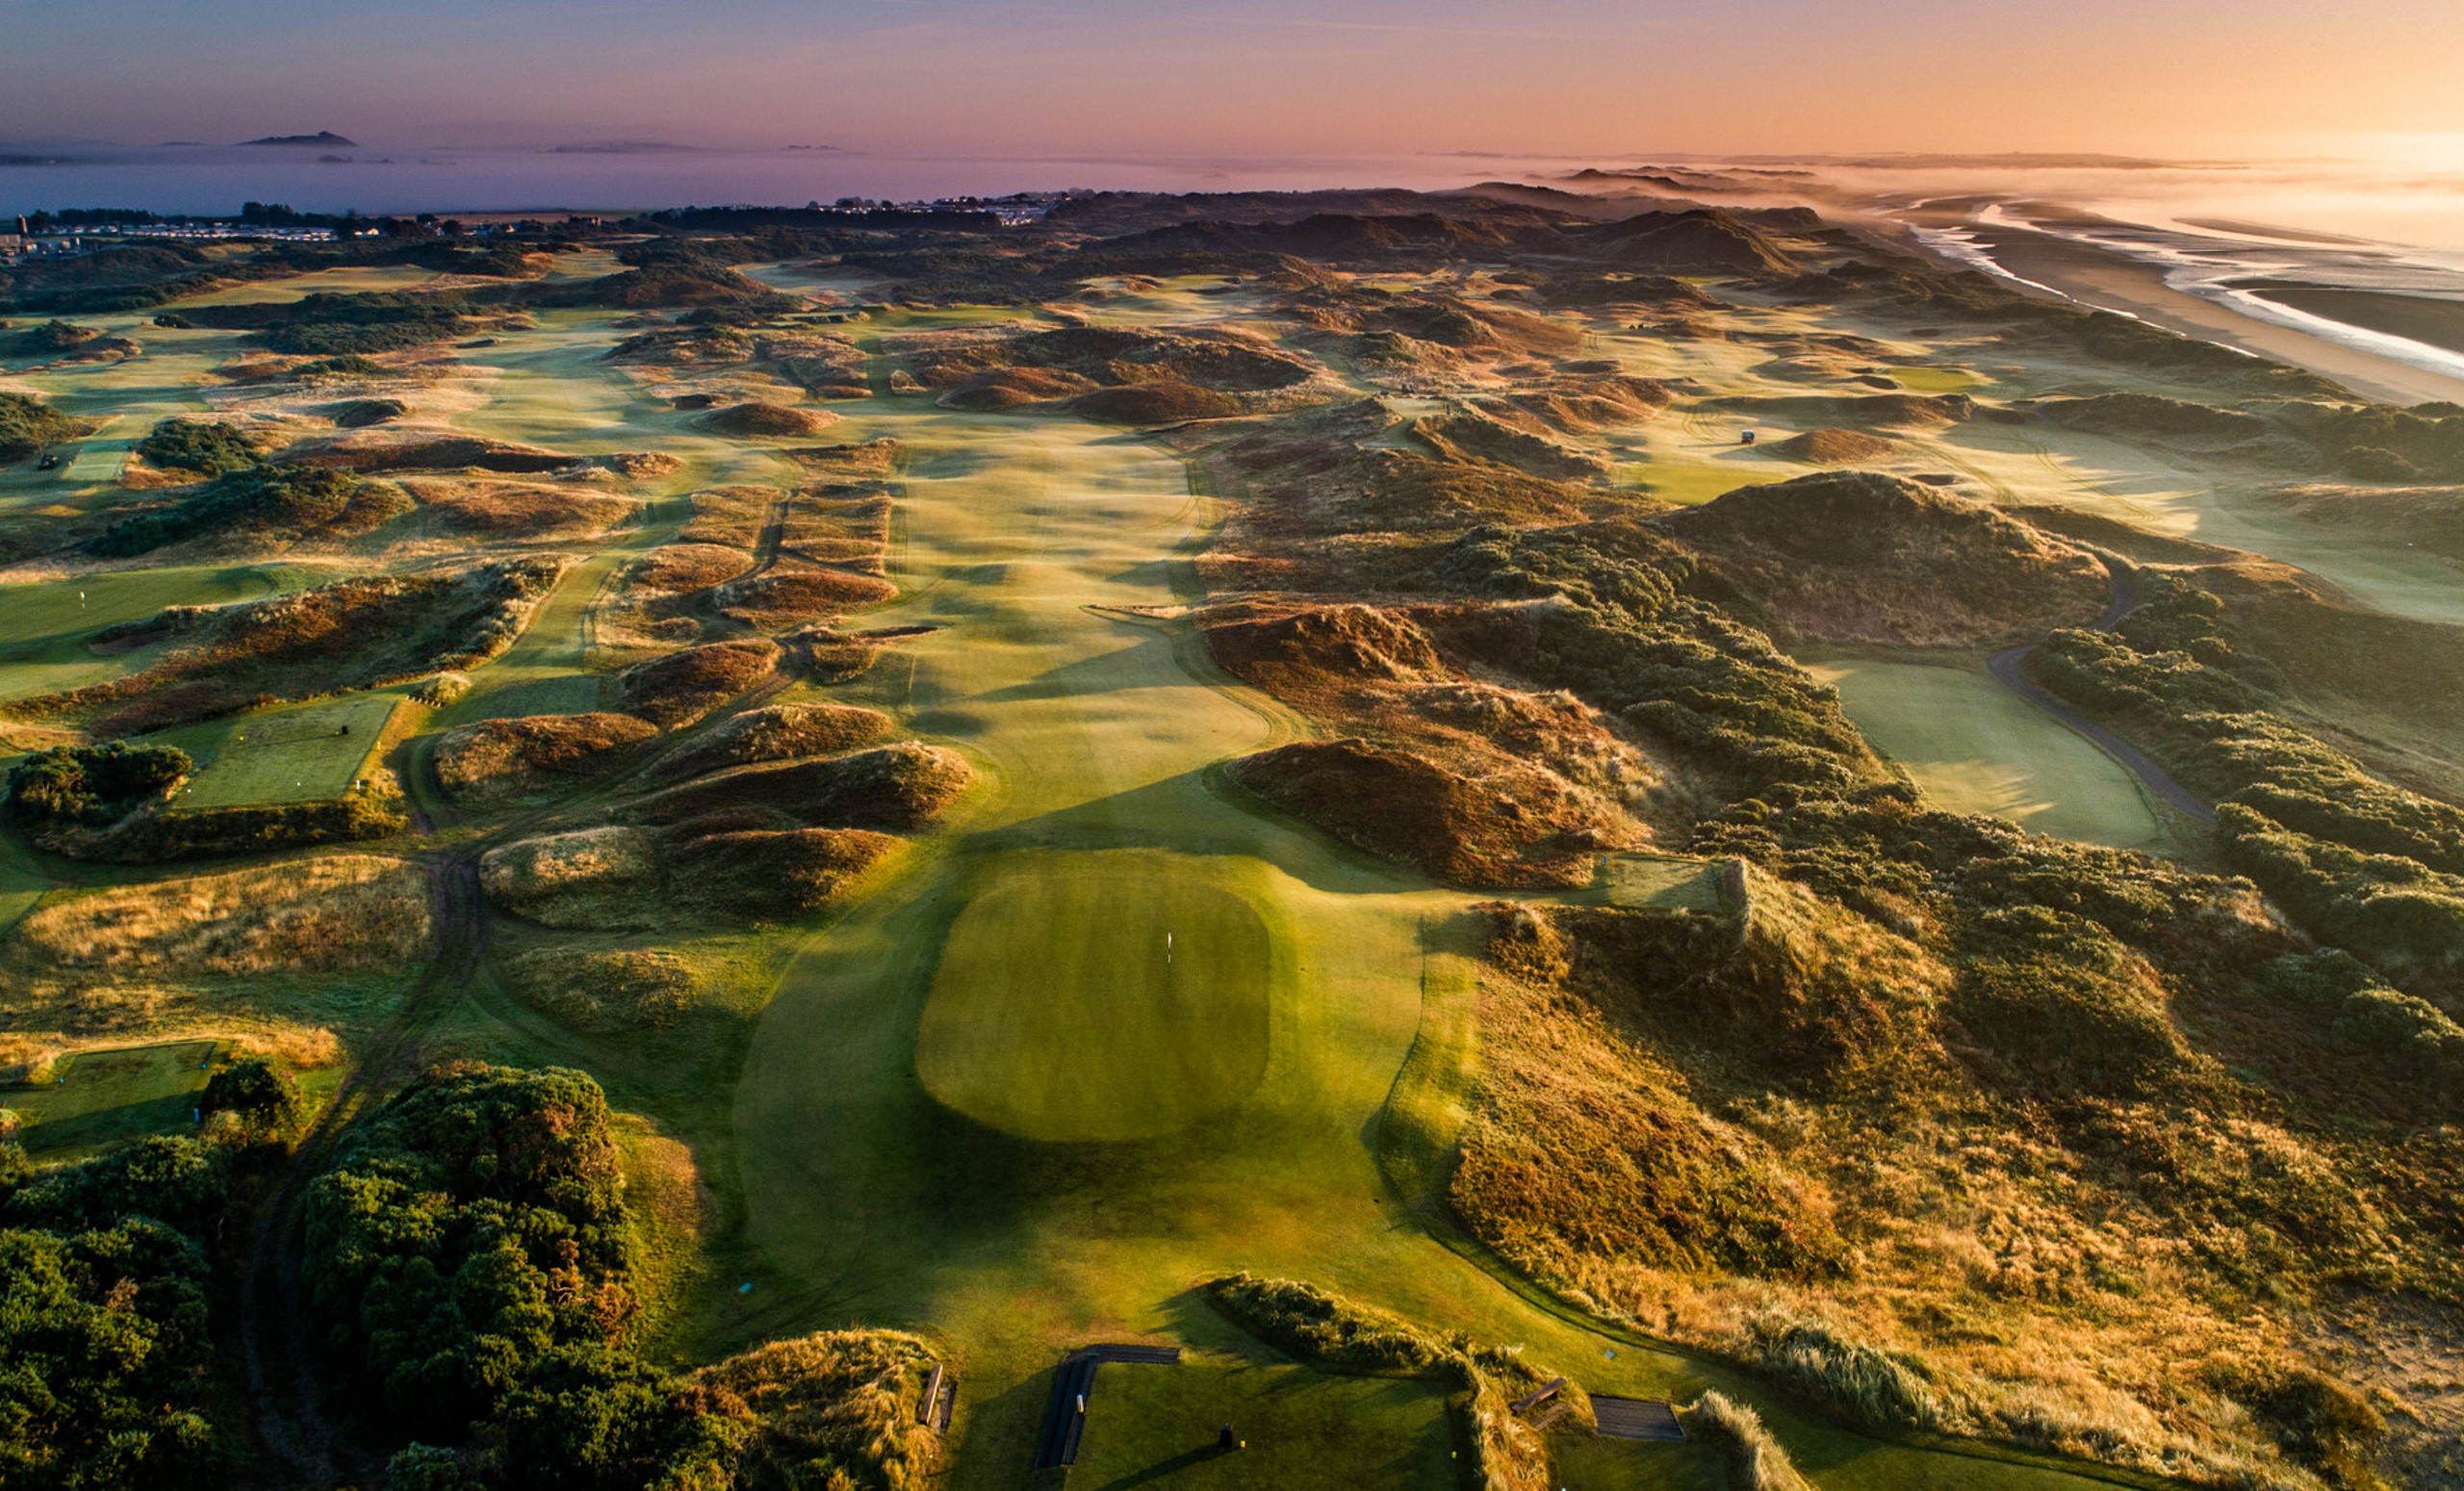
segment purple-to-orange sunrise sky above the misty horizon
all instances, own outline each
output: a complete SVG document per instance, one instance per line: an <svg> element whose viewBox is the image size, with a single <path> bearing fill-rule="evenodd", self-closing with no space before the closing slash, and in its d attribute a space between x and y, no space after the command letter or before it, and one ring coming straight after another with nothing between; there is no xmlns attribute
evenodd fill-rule
<svg viewBox="0 0 2464 1491"><path fill-rule="evenodd" d="M0 0L0 138L2388 155L2457 0Z"/></svg>

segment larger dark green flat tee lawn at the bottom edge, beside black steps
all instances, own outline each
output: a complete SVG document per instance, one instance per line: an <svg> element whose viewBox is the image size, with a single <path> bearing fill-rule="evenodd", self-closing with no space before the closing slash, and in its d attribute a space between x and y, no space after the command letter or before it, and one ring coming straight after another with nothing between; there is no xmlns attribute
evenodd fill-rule
<svg viewBox="0 0 2464 1491"><path fill-rule="evenodd" d="M1217 1449L1222 1424L1244 1442ZM1446 1397L1429 1383L1333 1378L1294 1365L1096 1368L1087 1437L1069 1484L1338 1486L1370 1491L1454 1484Z"/></svg>

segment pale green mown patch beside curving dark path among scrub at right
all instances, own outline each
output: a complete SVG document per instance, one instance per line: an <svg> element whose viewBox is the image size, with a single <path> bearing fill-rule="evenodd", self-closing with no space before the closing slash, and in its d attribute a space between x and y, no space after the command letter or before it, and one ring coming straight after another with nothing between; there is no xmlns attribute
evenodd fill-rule
<svg viewBox="0 0 2464 1491"><path fill-rule="evenodd" d="M2156 813L2139 779L1988 673L1927 663L1809 663L1885 757L1951 813L2144 848Z"/></svg>

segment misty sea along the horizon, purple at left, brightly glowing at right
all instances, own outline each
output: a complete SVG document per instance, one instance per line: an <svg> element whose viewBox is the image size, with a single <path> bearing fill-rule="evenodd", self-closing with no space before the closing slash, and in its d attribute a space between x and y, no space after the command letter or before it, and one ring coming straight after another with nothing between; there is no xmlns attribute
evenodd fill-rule
<svg viewBox="0 0 2464 1491"><path fill-rule="evenodd" d="M1902 224L1932 251L2176 330L2097 264L2156 296L2190 296L2240 325L2301 333L2439 380L2378 380L2380 397L2444 397L2464 380L2464 170L2407 160L2136 160L2117 155L1703 155L1562 158L1397 153L1326 158L902 155L828 145L697 150L663 143L416 148L0 143L0 214L133 207L301 212L638 212L801 207L840 197L1013 192L1252 192L1525 182L1671 205L1814 205ZM2294 286L2289 293L2272 283ZM2299 301L2299 303L2296 303ZM2422 301L2430 301L2427 315ZM2464 325L2464 320L2457 320ZM2225 335L2235 345L2259 347ZM2363 370L2368 372L2368 370ZM2358 384L2361 387L2361 384Z"/></svg>

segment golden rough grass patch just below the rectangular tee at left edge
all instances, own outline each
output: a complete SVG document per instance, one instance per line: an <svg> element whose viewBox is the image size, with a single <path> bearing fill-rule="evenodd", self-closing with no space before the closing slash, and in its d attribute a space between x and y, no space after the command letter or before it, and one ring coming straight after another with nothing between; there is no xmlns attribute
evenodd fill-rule
<svg viewBox="0 0 2464 1491"><path fill-rule="evenodd" d="M12 936L37 964L163 976L384 969L429 944L426 870L379 855L71 892Z"/></svg>

